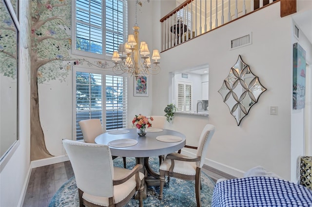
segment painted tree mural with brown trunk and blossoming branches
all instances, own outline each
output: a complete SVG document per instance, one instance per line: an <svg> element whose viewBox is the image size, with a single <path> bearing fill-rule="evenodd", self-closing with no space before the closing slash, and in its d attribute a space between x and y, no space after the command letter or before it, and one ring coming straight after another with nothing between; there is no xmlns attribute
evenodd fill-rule
<svg viewBox="0 0 312 207"><path fill-rule="evenodd" d="M39 117L39 84L65 81L73 65L108 68L106 61L89 62L70 55L70 0L32 0L31 2L31 160L52 157L45 145Z"/></svg>

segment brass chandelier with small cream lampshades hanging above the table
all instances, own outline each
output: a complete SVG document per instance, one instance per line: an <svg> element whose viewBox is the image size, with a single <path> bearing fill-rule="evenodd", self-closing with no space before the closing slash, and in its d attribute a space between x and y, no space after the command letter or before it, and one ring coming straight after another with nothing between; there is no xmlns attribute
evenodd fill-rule
<svg viewBox="0 0 312 207"><path fill-rule="evenodd" d="M112 60L115 66L113 72L120 75L127 72L129 77L132 76L148 76L156 75L160 71L158 66L160 59L159 51L153 50L152 60L154 60L151 66L151 58L149 56L150 51L146 42L138 41L137 25L137 3L136 3L136 23L133 27L134 34L128 35L128 41L124 44L119 44L118 51L114 51Z"/></svg>

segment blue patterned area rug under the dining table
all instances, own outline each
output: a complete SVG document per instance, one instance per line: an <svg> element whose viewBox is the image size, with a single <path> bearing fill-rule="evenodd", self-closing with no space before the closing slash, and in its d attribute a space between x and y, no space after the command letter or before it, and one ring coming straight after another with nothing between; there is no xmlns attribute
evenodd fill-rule
<svg viewBox="0 0 312 207"><path fill-rule="evenodd" d="M122 167L122 158L117 157L114 166ZM135 166L135 158L126 158L127 168L132 169ZM150 167L159 172L158 157L150 157ZM201 204L202 207L210 207L212 201L215 182L205 173L201 174L202 190ZM169 185L163 190L163 199L158 200L159 186L149 186L147 197L143 200L144 207L196 207L195 181L186 181L172 177ZM79 198L75 177L65 182L52 197L49 207L78 207ZM138 200L131 199L124 207L138 206Z"/></svg>

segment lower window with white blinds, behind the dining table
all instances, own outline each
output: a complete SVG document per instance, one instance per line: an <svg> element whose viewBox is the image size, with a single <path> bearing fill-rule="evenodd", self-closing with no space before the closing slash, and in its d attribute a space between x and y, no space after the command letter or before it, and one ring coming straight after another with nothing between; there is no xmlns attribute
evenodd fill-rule
<svg viewBox="0 0 312 207"><path fill-rule="evenodd" d="M100 119L104 130L126 127L127 77L76 68L76 137L83 139L78 122ZM103 93L105 91L105 93Z"/></svg>

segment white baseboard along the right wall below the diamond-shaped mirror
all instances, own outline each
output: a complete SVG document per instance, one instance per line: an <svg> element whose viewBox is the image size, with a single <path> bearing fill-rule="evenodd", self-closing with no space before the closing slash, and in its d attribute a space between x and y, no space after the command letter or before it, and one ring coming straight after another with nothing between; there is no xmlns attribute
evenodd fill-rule
<svg viewBox="0 0 312 207"><path fill-rule="evenodd" d="M188 151L183 150L183 149L182 149L182 152L184 155L196 156L194 153L188 152ZM228 174L233 175L235 177L243 177L244 173L245 173L241 170L235 169L233 167L230 167L228 165L224 165L222 163L216 162L216 161L214 161L212 159L208 159L208 158L205 158L205 165L208 165L212 168L215 168L215 169L222 171L224 173L228 173Z"/></svg>

